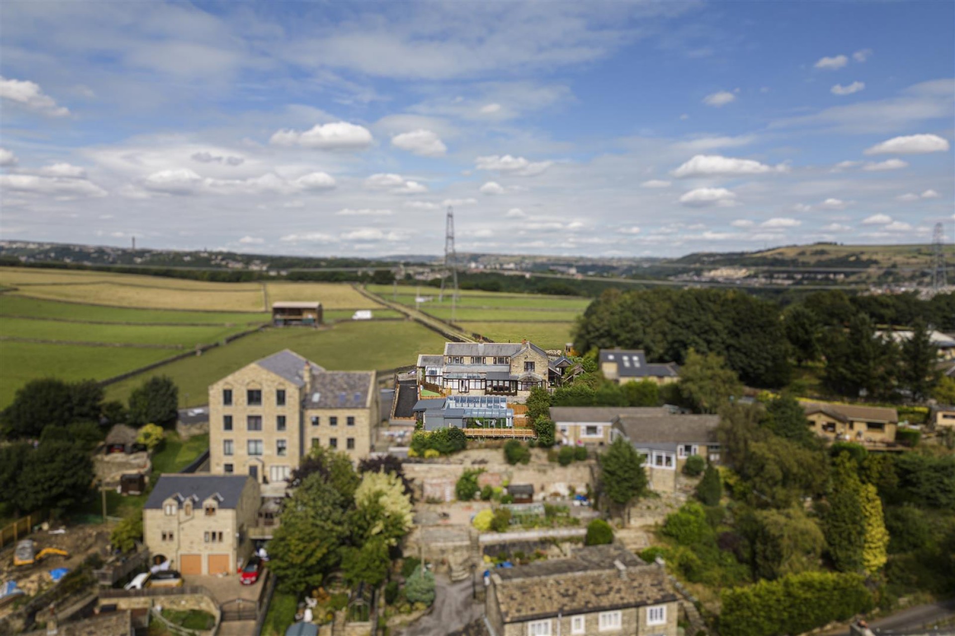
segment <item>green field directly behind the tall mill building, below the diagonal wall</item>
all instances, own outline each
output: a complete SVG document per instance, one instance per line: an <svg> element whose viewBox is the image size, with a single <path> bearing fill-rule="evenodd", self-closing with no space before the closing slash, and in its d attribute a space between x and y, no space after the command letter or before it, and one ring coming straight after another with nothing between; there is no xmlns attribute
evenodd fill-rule
<svg viewBox="0 0 955 636"><path fill-rule="evenodd" d="M177 360L106 387L108 400L127 400L151 376L169 376L180 387L180 406L207 401L208 386L249 362L291 349L332 370L392 369L414 364L421 353L440 353L444 339L412 321L346 321L329 329L266 329L217 347L202 356Z"/></svg>

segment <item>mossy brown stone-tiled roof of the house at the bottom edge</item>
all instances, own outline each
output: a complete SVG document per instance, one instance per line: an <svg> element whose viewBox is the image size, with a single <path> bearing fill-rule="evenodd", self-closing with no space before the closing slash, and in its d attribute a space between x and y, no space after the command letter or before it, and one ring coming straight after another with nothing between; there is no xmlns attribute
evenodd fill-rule
<svg viewBox="0 0 955 636"><path fill-rule="evenodd" d="M492 580L504 623L677 599L661 566L646 564L617 545L594 545L568 559L501 568Z"/></svg>

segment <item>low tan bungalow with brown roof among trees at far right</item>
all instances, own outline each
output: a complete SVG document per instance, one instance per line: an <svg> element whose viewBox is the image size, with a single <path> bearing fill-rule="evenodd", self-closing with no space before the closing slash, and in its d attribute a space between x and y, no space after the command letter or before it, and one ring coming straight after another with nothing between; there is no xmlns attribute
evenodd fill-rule
<svg viewBox="0 0 955 636"><path fill-rule="evenodd" d="M812 429L829 441L895 441L899 412L894 408L825 402L802 402L802 408Z"/></svg>

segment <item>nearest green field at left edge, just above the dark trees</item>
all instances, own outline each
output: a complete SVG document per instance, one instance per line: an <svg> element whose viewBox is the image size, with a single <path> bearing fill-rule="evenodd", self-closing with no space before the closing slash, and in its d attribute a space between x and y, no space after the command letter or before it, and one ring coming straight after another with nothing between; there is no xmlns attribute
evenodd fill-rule
<svg viewBox="0 0 955 636"><path fill-rule="evenodd" d="M106 380L176 354L169 349L0 341L0 408L30 380Z"/></svg>

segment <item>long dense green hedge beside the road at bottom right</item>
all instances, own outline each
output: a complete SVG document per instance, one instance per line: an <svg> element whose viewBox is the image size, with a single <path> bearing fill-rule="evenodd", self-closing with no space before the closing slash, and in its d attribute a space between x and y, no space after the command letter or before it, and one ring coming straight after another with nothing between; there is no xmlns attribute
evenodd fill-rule
<svg viewBox="0 0 955 636"><path fill-rule="evenodd" d="M872 593L859 574L802 572L776 581L725 589L722 636L801 634L845 621L872 608Z"/></svg>

